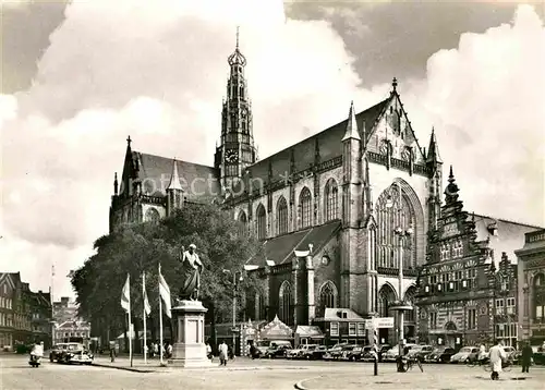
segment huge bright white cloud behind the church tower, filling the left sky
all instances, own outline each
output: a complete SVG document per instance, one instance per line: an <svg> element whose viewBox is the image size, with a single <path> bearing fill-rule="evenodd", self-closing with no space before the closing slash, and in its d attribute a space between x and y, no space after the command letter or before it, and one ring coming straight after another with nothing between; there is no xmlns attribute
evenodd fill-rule
<svg viewBox="0 0 545 390"><path fill-rule="evenodd" d="M46 247L58 264L85 259L129 134L135 149L213 162L237 25L262 156L347 114L353 58L326 22L286 21L281 1L75 1L2 115L2 261L33 245L22 265L47 263Z"/></svg>

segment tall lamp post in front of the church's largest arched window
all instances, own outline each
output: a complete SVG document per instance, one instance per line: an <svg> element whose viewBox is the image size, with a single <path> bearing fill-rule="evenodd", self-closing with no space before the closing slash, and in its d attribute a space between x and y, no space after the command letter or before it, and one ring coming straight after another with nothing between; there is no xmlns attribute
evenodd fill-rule
<svg viewBox="0 0 545 390"><path fill-rule="evenodd" d="M398 204L398 220L401 220L401 186L399 183L396 183L396 187L398 190L398 196L399 196L399 204ZM386 207L387 208L392 208L395 203L393 198L391 196L391 191L392 188L390 187L390 194L388 194L388 198L386 202ZM404 340L404 312L412 310L412 306L410 303L403 302L403 243L405 239L410 239L413 235L413 230L411 227L408 229L404 229L402 227L397 227L393 230L393 234L399 237L399 272L398 272L398 283L399 283L399 301L395 303L393 306L391 306L392 310L398 312L398 340L399 340L399 357L400 357L400 363L398 364L398 371L404 371L403 370L403 365L401 363L401 356L403 356L403 340Z"/></svg>

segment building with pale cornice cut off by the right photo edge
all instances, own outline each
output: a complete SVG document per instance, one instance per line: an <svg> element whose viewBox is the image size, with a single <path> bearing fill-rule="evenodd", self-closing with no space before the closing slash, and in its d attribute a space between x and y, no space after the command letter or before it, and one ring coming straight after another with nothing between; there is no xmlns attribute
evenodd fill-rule
<svg viewBox="0 0 545 390"><path fill-rule="evenodd" d="M545 230L525 234L519 259L519 339L532 345L545 342Z"/></svg>

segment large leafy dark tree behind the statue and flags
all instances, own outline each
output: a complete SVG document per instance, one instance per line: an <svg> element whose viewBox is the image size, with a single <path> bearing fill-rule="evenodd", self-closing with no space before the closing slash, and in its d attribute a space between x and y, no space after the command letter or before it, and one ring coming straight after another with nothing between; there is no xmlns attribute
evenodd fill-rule
<svg viewBox="0 0 545 390"><path fill-rule="evenodd" d="M217 321L230 320L233 292L242 297L245 285L240 284L252 282L251 278L239 282L244 275L243 265L261 248L253 236L238 232L238 222L228 212L213 205L191 205L160 222L142 223L99 237L95 242L96 254L72 277L80 315L89 320L106 318L110 327L123 329L120 298L130 275L132 316L143 318L142 273L145 271L152 316L156 316L159 264L174 300L183 282L180 249L193 243L204 265L201 300L215 307ZM239 289L233 289L233 272Z"/></svg>

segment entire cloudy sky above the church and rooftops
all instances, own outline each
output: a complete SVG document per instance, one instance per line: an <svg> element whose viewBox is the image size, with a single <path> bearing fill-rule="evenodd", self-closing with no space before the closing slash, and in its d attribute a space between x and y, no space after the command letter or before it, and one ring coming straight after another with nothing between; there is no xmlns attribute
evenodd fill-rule
<svg viewBox="0 0 545 390"><path fill-rule="evenodd" d="M0 0L0 270L71 294L135 149L213 163L241 49L266 157L385 98L435 126L467 209L545 224L543 2ZM274 134L274 135L272 135Z"/></svg>

